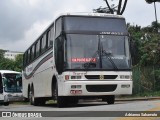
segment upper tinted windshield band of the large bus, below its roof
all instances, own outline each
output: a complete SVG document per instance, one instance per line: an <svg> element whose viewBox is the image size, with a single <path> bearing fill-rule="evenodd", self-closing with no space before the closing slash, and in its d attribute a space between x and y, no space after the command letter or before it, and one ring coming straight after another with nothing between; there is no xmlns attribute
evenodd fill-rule
<svg viewBox="0 0 160 120"><path fill-rule="evenodd" d="M64 29L66 32L119 32L127 34L125 19L108 17L65 17Z"/></svg>

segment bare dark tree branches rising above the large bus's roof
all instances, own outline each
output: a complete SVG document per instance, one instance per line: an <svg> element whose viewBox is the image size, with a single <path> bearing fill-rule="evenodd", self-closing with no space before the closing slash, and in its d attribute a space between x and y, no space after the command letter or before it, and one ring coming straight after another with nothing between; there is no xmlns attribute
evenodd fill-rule
<svg viewBox="0 0 160 120"><path fill-rule="evenodd" d="M104 0L104 1L106 2L107 7L105 7L105 8L100 7L98 9L95 9L94 10L95 12L110 13L110 14L114 14L114 12L116 12L117 15L122 15L125 11L128 0L119 0L118 6L114 6L114 4L110 5L108 0Z"/></svg>

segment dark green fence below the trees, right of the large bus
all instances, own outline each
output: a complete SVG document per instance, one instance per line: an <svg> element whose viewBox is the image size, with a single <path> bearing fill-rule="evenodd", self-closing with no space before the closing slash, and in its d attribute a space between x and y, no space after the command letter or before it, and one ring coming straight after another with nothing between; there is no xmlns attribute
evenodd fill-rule
<svg viewBox="0 0 160 120"><path fill-rule="evenodd" d="M160 91L160 67L133 67L133 95Z"/></svg>

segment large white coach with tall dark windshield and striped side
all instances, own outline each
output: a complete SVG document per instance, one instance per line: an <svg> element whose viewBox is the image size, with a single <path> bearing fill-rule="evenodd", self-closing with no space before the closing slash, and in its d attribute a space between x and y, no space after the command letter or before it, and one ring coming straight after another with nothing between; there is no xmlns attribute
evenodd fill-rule
<svg viewBox="0 0 160 120"><path fill-rule="evenodd" d="M23 95L35 106L88 98L114 104L115 95L132 94L129 45L123 16L61 14L24 53Z"/></svg>

